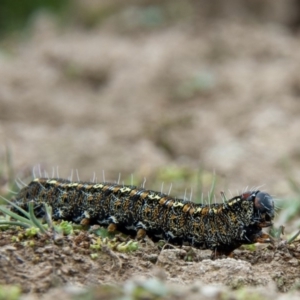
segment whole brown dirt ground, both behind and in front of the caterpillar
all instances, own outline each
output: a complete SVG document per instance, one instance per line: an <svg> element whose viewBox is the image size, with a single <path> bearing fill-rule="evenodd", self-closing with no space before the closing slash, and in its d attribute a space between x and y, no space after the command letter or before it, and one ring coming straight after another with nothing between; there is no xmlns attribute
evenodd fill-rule
<svg viewBox="0 0 300 300"><path fill-rule="evenodd" d="M81 22L97 12L97 1L86 2ZM288 176L300 182L300 39L297 22L289 22L296 1L278 1L281 9L261 1L258 14L236 1L220 11L171 2L116 9L101 1L108 16L92 27L62 28L41 14L30 33L2 41L0 194L9 193L12 177L28 181L35 167L36 176L79 170L82 180L121 174L128 183L134 174L149 189L173 183L180 196L174 172L202 166L225 182L217 192L263 185L295 199ZM194 179L187 176L185 188L195 190ZM279 211L276 226L289 234L299 228L297 217L285 222ZM19 285L24 299L77 299L86 286L98 286L94 299L125 299L138 287L147 293L137 299L300 295L298 243L211 260L206 251L193 249L188 259L188 248L148 241L133 253L103 250L92 259L87 232L60 245L36 238L32 247L12 242L15 234L0 231L0 283Z"/></svg>

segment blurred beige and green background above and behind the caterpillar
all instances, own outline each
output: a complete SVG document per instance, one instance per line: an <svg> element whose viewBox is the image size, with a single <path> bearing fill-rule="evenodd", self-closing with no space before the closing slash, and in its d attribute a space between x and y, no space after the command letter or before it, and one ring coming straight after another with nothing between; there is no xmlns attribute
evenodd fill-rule
<svg viewBox="0 0 300 300"><path fill-rule="evenodd" d="M300 195L299 37L299 0L2 0L1 186Z"/></svg>

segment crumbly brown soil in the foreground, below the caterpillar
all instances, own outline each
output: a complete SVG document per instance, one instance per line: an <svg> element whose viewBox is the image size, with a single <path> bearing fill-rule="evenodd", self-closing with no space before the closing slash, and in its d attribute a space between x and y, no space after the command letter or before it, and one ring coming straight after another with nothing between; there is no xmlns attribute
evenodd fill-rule
<svg viewBox="0 0 300 300"><path fill-rule="evenodd" d="M246 292L245 287L264 299L274 296L281 299L278 291L292 290L288 297L300 295L299 243L287 245L281 241L276 246L257 247L255 251L239 249L234 258L212 260L210 251L172 245L162 248L150 240L140 243L139 249L132 253L109 247L95 252L90 245L96 236L86 231L60 239L59 243L45 236L12 242L12 236L21 233L20 230L0 232L0 282L18 284L22 293L28 294L24 299L40 299L42 295L43 299L53 299L55 294L60 295L59 299L73 299L76 295L85 299L84 288L93 286L99 288L93 291L92 299L104 299L104 293L105 299L126 293L133 297L129 299L157 299L157 296L181 299L183 295L187 299L199 296L220 299L220 295L229 295L230 290ZM92 253L98 256L92 259ZM124 284L123 291L117 294L113 293L115 288L106 291L120 283ZM147 291L150 283L152 289ZM135 292L126 289L128 285L144 287L148 298L146 294L134 298ZM161 286L166 289L162 295L158 292ZM209 289L212 294L206 295ZM238 294L231 294L232 299L239 299Z"/></svg>

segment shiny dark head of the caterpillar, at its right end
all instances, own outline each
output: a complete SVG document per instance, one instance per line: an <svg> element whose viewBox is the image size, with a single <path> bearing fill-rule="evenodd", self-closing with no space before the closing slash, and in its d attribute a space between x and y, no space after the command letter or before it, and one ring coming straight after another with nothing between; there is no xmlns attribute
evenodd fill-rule
<svg viewBox="0 0 300 300"><path fill-rule="evenodd" d="M275 215L274 200L268 193L260 191L246 192L242 195L242 198L253 202L253 221L255 223L260 227L272 225Z"/></svg>

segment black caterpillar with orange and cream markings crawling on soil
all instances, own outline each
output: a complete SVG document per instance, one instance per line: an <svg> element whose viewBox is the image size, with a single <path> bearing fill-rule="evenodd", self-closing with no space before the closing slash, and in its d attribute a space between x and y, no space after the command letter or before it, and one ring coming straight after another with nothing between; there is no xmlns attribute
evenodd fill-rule
<svg viewBox="0 0 300 300"><path fill-rule="evenodd" d="M262 228L272 225L274 201L259 190L204 205L132 185L36 178L13 202L28 209L31 200L38 217L45 214L47 203L54 220L106 225L109 231L135 232L138 239L147 234L211 249L213 255L232 256L243 244L272 241Z"/></svg>

